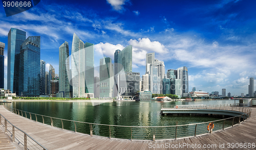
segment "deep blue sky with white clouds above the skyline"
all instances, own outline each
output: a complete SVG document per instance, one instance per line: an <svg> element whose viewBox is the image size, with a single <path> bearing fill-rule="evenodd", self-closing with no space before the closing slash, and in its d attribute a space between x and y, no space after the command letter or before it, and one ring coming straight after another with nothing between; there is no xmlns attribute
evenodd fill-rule
<svg viewBox="0 0 256 150"><path fill-rule="evenodd" d="M0 41L10 28L41 36L41 60L58 72L58 47L75 32L95 44L95 54L114 59L116 49L133 45L133 71L145 73L145 55L155 52L165 68L188 67L189 91L226 88L248 93L256 78L256 1L41 1L6 17L0 6ZM102 55L103 53L103 55ZM7 60L5 61L7 62ZM95 59L95 66L99 60ZM7 65L7 63L5 64ZM49 65L48 65L49 66ZM7 79L7 67L5 67Z"/></svg>

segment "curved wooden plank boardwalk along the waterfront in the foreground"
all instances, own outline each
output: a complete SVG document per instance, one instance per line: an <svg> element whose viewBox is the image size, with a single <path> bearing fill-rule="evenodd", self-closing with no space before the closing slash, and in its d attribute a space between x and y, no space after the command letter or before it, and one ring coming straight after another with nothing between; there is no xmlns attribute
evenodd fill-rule
<svg viewBox="0 0 256 150"><path fill-rule="evenodd" d="M86 134L61 130L59 128L51 127L16 115L6 110L3 106L0 106L0 113L14 124L14 126L26 132L48 149L256 149L248 147L245 148L244 146L243 148L228 148L228 143L256 143L256 108L251 109L251 117L248 120L232 128L225 129L224 131L218 131L197 137L177 140L156 140L154 142L151 140L131 141L128 139L109 139L107 137L100 136L91 137ZM184 145L185 143L190 144L191 148L189 148L189 146L179 146ZM224 148L220 147L220 143L224 143ZM195 144L197 146L200 144L201 148L193 148L193 145L195 146ZM215 146L214 144L216 144L216 147L207 148L207 146ZM156 148L153 148L155 146ZM157 146L159 146L159 148ZM174 148L172 146L178 146L178 148ZM206 146L206 148L203 148L203 146ZM5 149L0 143L0 149L1 148Z"/></svg>

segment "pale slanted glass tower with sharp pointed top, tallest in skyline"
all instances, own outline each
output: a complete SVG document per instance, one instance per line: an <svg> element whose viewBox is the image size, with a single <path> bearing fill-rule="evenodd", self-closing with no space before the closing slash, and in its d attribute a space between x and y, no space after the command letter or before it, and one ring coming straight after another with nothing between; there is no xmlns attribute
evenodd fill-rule
<svg viewBox="0 0 256 150"><path fill-rule="evenodd" d="M71 58L71 69L72 69L72 86L73 86L73 97L84 97L86 78L84 71L86 69L86 60L84 52L84 43L74 33L72 41L72 58Z"/></svg>

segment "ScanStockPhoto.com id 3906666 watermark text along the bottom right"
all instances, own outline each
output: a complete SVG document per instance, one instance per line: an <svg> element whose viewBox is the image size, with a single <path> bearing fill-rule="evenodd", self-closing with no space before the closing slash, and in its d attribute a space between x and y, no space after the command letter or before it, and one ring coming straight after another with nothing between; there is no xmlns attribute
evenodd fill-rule
<svg viewBox="0 0 256 150"><path fill-rule="evenodd" d="M155 144L148 143L148 148L255 148L255 143L219 143L219 144L197 144L197 143L164 143L164 144Z"/></svg>

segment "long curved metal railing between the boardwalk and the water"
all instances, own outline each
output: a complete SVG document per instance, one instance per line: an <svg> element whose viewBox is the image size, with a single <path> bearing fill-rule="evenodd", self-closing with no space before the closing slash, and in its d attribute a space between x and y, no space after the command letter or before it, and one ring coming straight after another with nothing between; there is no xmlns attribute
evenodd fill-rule
<svg viewBox="0 0 256 150"><path fill-rule="evenodd" d="M241 121L245 121L250 117L251 109L249 108L240 108L240 107L216 107L216 109L225 109L240 111L243 114L220 119L215 121L208 121L202 123L193 123L193 124L183 124L176 126L161 126L161 127L135 127L135 126L117 126L109 124L99 124L99 123L89 123L74 121L68 119L61 119L55 117L49 117L45 115L30 113L18 109L14 109L5 105L5 108L17 115L24 116L36 122L41 122L48 124L52 127L57 127L61 129L71 130L78 133L89 134L91 136L98 135L104 137L115 137L115 138L124 138L124 139L177 139L184 138L189 136L198 136L207 134L207 126L210 122L214 122L215 127L212 130L220 131L229 127L233 127L236 124L240 124ZM212 108L212 107L211 107ZM234 109L235 108L235 109ZM241 109L241 110L240 110Z"/></svg>

